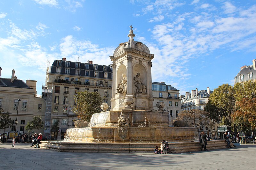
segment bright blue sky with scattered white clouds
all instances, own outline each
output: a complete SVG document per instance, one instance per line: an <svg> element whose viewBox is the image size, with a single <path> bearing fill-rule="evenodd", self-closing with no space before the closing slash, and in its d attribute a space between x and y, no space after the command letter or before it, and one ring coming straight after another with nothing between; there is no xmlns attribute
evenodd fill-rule
<svg viewBox="0 0 256 170"><path fill-rule="evenodd" d="M9 0L0 1L1 77L14 69L40 95L47 60L109 65L130 25L155 55L152 80L181 95L233 85L256 59L255 0Z"/></svg>

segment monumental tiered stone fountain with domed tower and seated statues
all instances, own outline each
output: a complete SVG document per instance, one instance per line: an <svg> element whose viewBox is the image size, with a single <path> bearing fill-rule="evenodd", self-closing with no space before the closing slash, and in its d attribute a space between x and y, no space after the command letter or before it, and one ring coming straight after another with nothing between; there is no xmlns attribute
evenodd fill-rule
<svg viewBox="0 0 256 170"><path fill-rule="evenodd" d="M200 148L194 127L173 127L164 103L153 108L151 60L148 47L134 41L132 26L129 40L120 43L110 56L113 69L111 106L92 115L89 127L67 129L64 141L43 141L45 148L71 152L152 152L161 140L175 148ZM173 142L173 143L172 143ZM189 143L188 143L189 142ZM182 146L181 146L182 145ZM172 149L173 152L175 149ZM191 150L191 149L190 149ZM178 150L177 150L178 152Z"/></svg>

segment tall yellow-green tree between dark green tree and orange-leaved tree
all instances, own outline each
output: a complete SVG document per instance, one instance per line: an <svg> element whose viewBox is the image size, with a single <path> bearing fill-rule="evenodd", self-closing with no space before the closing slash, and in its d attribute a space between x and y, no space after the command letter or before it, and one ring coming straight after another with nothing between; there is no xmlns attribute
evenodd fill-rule
<svg viewBox="0 0 256 170"><path fill-rule="evenodd" d="M234 88L231 85L223 84L214 89L209 97L208 107L216 107L217 115L226 117L228 124L231 125L231 114L235 111ZM212 105L212 106L209 106ZM216 112L216 111L215 111Z"/></svg>

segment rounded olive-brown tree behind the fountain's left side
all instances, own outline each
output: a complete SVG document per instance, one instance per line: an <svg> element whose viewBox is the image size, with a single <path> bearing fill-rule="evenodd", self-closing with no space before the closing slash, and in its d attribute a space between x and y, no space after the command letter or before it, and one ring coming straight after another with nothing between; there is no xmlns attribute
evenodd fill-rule
<svg viewBox="0 0 256 170"><path fill-rule="evenodd" d="M77 117L90 122L92 115L101 111L100 105L103 99L98 92L78 92L75 95L76 105L72 111Z"/></svg>

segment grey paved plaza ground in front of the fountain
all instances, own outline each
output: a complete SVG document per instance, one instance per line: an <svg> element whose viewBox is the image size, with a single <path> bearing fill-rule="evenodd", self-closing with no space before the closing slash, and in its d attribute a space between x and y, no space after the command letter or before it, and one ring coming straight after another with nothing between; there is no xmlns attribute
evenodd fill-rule
<svg viewBox="0 0 256 170"><path fill-rule="evenodd" d="M153 152L152 148L152 152ZM0 169L256 169L256 145L177 154L56 152L0 144Z"/></svg>

